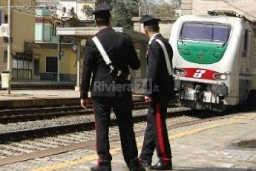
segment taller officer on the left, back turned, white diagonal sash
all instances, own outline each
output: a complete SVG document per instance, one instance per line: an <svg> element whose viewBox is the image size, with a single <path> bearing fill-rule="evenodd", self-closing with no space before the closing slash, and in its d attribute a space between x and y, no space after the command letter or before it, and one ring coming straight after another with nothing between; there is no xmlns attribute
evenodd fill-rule
<svg viewBox="0 0 256 171"><path fill-rule="evenodd" d="M96 148L98 165L93 171L110 171L109 125L111 109L116 114L124 160L131 171L144 171L138 159L138 149L133 131L132 92L129 66L138 70L140 61L130 36L115 32L110 27L109 4L100 4L93 12L99 27L98 33L87 42L84 55L81 105L88 105L91 78L91 99L95 111ZM97 39L96 39L97 38Z"/></svg>

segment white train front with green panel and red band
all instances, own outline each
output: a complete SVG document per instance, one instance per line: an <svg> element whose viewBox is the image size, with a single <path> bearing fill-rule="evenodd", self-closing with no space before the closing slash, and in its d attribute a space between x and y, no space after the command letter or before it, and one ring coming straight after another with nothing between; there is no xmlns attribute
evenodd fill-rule
<svg viewBox="0 0 256 171"><path fill-rule="evenodd" d="M174 50L175 88L184 106L224 110L237 105L242 29L243 22L235 17L183 16L177 19L170 44Z"/></svg>

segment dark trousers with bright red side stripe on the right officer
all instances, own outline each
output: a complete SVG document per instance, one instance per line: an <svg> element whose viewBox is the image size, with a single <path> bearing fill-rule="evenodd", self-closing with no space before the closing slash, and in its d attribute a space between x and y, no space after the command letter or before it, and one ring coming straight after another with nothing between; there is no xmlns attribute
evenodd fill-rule
<svg viewBox="0 0 256 171"><path fill-rule="evenodd" d="M172 159L168 131L166 127L168 101L152 102L148 105L147 128L144 136L140 158L151 161L155 148L164 163Z"/></svg>

